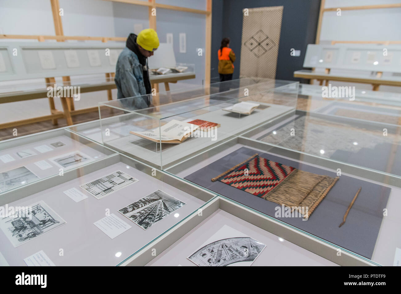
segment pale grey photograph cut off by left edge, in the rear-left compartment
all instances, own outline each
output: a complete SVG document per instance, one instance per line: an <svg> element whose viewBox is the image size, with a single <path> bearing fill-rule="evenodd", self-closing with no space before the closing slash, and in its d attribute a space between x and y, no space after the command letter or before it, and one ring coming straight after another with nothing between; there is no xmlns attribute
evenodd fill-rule
<svg viewBox="0 0 401 294"><path fill-rule="evenodd" d="M0 192L8 191L36 180L39 180L39 177L25 166L0 172Z"/></svg>

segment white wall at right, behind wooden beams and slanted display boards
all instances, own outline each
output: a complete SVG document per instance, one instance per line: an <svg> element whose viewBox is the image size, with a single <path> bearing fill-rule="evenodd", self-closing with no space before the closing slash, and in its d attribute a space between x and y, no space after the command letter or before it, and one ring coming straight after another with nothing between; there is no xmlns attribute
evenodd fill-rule
<svg viewBox="0 0 401 294"><path fill-rule="evenodd" d="M395 4L399 0L326 0L324 8ZM324 12L320 33L320 44L336 41L400 41L401 8L381 8L368 10L342 10ZM316 83L316 82L315 82ZM344 85L344 82L331 82ZM372 89L369 84L347 84L360 89ZM381 91L401 92L401 87L380 86Z"/></svg>

